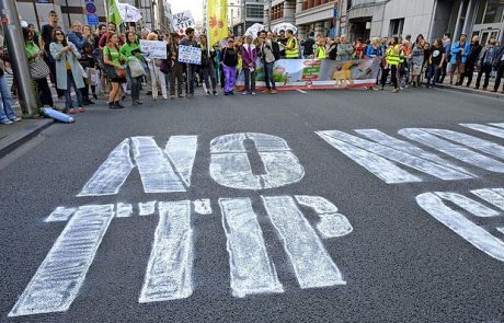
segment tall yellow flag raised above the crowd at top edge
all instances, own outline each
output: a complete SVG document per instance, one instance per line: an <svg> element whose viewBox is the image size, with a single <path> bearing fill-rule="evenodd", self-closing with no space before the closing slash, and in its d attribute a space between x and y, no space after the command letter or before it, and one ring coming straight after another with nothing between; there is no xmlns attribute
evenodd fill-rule
<svg viewBox="0 0 504 323"><path fill-rule="evenodd" d="M228 36L228 0L208 0L208 44Z"/></svg>

